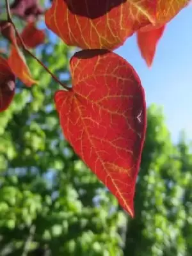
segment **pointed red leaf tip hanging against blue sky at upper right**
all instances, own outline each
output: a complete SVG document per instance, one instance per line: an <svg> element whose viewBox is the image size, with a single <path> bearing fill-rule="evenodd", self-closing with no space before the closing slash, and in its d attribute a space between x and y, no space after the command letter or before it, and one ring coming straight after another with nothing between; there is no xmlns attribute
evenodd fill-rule
<svg viewBox="0 0 192 256"><path fill-rule="evenodd" d="M163 35L165 26L150 31L138 31L138 47L141 51L141 56L145 59L148 67L152 65L156 53L157 43Z"/></svg>

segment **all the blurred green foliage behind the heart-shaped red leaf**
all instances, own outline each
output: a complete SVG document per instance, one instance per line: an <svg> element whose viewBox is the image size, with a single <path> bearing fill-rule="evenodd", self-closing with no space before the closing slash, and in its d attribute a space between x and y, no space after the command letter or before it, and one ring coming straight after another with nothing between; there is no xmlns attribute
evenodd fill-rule
<svg viewBox="0 0 192 256"><path fill-rule="evenodd" d="M5 42L0 38L0 46ZM38 57L70 84L74 49L47 42ZM59 88L27 58L39 84L0 113L0 255L191 256L192 152L174 145L162 109L148 127L132 220L63 139L53 95Z"/></svg>

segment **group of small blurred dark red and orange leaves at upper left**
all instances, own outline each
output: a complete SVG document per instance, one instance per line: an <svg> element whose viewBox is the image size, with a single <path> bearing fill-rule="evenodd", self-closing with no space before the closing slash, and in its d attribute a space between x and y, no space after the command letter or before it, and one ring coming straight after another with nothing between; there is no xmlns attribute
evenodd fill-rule
<svg viewBox="0 0 192 256"><path fill-rule="evenodd" d="M1 11L1 10L0 10ZM17 1L10 6L10 12L24 19L24 28L20 35L12 24L12 20L0 20L1 35L10 44L10 54L6 60L0 56L1 70L1 99L0 111L8 108L15 95L15 78L18 77L26 86L31 86L36 81L31 77L31 72L20 47L25 45L29 49L44 43L45 32L36 28L35 19L40 15L40 7L37 1Z"/></svg>

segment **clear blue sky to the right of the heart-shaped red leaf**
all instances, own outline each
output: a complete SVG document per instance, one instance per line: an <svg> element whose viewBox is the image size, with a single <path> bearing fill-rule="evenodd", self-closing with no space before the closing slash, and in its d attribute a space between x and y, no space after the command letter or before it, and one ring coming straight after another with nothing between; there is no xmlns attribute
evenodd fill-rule
<svg viewBox="0 0 192 256"><path fill-rule="evenodd" d="M152 68L141 58L136 36L115 52L138 72L147 105L163 106L173 141L181 129L192 139L192 6L184 8L166 27Z"/></svg>

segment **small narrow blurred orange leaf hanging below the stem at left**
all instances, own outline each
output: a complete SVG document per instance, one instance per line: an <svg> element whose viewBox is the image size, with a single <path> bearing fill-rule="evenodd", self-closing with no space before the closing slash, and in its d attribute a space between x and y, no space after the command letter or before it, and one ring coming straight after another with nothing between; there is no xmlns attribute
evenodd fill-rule
<svg viewBox="0 0 192 256"><path fill-rule="evenodd" d="M26 64L26 60L22 55L22 52L19 51L17 45L11 46L8 64L15 76L19 77L20 81L26 86L31 86L32 84L37 83L37 81L31 77L31 72Z"/></svg>

